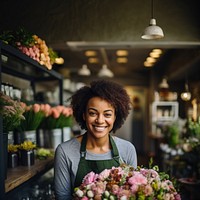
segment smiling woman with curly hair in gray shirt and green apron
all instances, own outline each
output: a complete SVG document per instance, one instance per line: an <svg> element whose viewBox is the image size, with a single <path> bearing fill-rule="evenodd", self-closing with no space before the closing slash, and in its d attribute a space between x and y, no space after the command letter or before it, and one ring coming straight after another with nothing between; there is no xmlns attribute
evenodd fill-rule
<svg viewBox="0 0 200 200"><path fill-rule="evenodd" d="M55 155L56 199L72 198L84 176L126 163L137 167L132 143L112 136L127 118L131 102L117 83L98 80L79 89L71 98L75 120L85 134L60 144Z"/></svg>

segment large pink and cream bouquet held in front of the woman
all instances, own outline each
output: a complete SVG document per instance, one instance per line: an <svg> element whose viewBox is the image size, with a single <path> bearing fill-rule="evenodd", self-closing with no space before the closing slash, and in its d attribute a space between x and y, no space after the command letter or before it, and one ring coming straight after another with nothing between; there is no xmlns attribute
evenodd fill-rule
<svg viewBox="0 0 200 200"><path fill-rule="evenodd" d="M146 169L122 164L100 174L90 172L80 187L74 189L75 200L180 200L173 183L158 167Z"/></svg>

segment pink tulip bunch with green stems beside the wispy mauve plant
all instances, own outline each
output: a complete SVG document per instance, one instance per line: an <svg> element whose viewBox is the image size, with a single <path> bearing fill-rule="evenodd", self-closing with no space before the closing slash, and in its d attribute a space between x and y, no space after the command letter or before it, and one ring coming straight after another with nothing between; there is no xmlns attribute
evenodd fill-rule
<svg viewBox="0 0 200 200"><path fill-rule="evenodd" d="M36 130L45 117L49 114L51 106L49 104L32 104L23 103L25 120L21 120L17 129L21 132Z"/></svg>

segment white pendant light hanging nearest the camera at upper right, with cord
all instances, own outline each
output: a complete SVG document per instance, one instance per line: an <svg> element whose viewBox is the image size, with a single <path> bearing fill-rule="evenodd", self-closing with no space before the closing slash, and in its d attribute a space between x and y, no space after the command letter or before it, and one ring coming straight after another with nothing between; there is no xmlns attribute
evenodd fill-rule
<svg viewBox="0 0 200 200"><path fill-rule="evenodd" d="M156 19L153 17L153 0L151 0L151 19L149 26L145 28L141 38L145 40L161 39L164 37L163 30L156 25Z"/></svg>

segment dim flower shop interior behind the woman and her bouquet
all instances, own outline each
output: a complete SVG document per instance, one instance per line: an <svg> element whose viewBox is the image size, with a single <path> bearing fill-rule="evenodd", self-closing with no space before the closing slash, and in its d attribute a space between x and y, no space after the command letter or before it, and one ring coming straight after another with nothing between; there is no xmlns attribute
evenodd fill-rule
<svg viewBox="0 0 200 200"><path fill-rule="evenodd" d="M132 110L116 135L135 145L138 165L148 167L153 158L177 180L182 199L199 198L198 0L0 5L1 199L54 199L54 151L82 133L67 99L102 78L122 84L131 97ZM153 26L161 35L146 36ZM6 102L17 114L2 114ZM65 114L58 121L59 109Z"/></svg>

